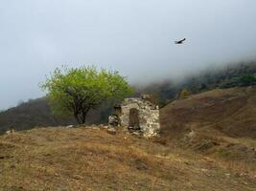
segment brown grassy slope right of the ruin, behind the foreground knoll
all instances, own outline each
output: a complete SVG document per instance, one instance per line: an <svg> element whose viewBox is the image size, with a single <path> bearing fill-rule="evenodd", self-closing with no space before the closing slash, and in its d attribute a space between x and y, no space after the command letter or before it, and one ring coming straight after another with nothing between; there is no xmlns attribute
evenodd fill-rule
<svg viewBox="0 0 256 191"><path fill-rule="evenodd" d="M256 86L175 100L160 117L162 141L256 170Z"/></svg>

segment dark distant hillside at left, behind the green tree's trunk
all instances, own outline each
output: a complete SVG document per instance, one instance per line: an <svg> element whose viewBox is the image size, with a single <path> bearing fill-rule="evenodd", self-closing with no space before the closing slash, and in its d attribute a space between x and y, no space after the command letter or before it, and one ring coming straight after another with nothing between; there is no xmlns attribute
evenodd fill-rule
<svg viewBox="0 0 256 191"><path fill-rule="evenodd" d="M102 118L105 118L106 115L100 110L94 110L88 114L87 124L103 122ZM70 124L77 124L77 122L73 117L54 116L45 97L30 100L0 112L0 135L10 129L21 131L35 127Z"/></svg>

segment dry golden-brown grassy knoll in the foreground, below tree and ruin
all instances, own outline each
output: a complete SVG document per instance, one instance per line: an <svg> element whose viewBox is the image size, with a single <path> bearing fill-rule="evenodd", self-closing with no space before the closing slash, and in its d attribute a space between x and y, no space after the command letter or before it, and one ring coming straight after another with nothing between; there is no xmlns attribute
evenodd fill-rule
<svg viewBox="0 0 256 191"><path fill-rule="evenodd" d="M0 190L255 190L255 171L157 141L103 127L1 136Z"/></svg>

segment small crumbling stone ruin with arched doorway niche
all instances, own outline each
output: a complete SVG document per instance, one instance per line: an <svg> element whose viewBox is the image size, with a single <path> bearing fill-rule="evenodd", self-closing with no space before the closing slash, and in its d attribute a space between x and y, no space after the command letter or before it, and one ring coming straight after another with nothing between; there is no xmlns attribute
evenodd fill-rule
<svg viewBox="0 0 256 191"><path fill-rule="evenodd" d="M110 126L122 126L124 130L147 138L159 135L159 108L151 102L151 97L126 98L114 107L115 114L108 118Z"/></svg>

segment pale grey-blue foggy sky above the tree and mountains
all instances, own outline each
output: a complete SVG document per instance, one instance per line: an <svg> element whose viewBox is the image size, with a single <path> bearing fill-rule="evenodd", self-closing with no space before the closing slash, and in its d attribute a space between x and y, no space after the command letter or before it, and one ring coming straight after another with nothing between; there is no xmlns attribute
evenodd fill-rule
<svg viewBox="0 0 256 191"><path fill-rule="evenodd" d="M1 1L0 109L43 96L38 83L63 64L150 83L254 58L255 22L255 0Z"/></svg>

